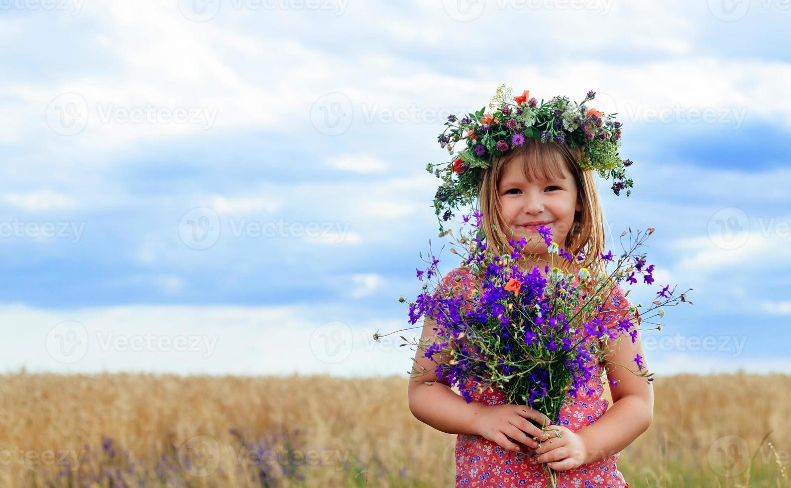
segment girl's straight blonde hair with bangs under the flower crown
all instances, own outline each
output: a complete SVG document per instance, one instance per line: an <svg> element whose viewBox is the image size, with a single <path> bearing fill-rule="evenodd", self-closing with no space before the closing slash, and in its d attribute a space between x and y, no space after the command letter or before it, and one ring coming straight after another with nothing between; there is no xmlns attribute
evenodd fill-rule
<svg viewBox="0 0 791 488"><path fill-rule="evenodd" d="M505 165L521 157L522 171L530 182L536 179L562 178L564 165L573 175L577 183L577 202L582 204L582 210L575 212L573 225L566 234L565 242L558 245L575 256L579 252L585 253L585 259L574 264L575 267L587 267L594 275L598 271L604 271L603 263L598 259L600 253L604 252L604 213L596 187L596 176L591 170L584 171L577 164L581 154L582 149L578 146L572 149L567 144L525 138L523 145L513 147L504 156L490 157L490 167L483 170L478 188L479 206L483 213L481 227L486 235L487 251L503 255L513 250L508 244L512 238L510 230L502 217L498 181ZM524 252L532 249L534 244L534 241L528 242ZM557 263L563 270L572 269L572 263L567 259L561 257L557 259Z"/></svg>

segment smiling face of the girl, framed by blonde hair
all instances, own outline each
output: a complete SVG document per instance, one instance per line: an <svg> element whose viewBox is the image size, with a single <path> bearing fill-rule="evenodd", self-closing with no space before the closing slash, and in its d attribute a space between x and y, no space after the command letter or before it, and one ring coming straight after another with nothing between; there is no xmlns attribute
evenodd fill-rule
<svg viewBox="0 0 791 488"><path fill-rule="evenodd" d="M535 245L532 252L544 259L547 244L536 228L539 225L551 228L551 239L563 247L574 221L574 212L582 210L582 205L577 203L577 183L565 165L562 165L562 178L550 176L549 179L534 181L528 181L522 165L521 158L514 157L503 168L498 181L502 217L509 229L513 229L513 240L532 237L525 249L532 250Z"/></svg>

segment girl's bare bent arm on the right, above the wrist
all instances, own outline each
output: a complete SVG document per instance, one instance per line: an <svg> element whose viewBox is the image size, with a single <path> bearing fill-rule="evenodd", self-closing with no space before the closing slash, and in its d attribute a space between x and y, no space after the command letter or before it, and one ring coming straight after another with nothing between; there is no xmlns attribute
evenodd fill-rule
<svg viewBox="0 0 791 488"><path fill-rule="evenodd" d="M628 309L630 303L623 297L623 289L616 287L616 293L621 296L619 310ZM616 320L625 315L626 313L619 313ZM607 378L617 381L617 384L610 388L612 406L596 422L577 430L588 452L586 463L602 460L622 451L651 426L653 386L645 377L637 376L637 373L648 368L648 363L643 359L643 368L638 370L634 362L638 354L645 356L640 331L634 342L630 335L622 333L607 345ZM630 371L619 364L626 365Z"/></svg>

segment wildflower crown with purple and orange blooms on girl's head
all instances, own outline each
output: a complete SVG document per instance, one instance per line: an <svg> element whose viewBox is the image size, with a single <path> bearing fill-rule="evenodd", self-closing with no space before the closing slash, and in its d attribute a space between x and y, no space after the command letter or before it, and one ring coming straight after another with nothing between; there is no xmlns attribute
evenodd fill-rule
<svg viewBox="0 0 791 488"><path fill-rule="evenodd" d="M539 104L528 90L513 96L504 83L489 103L490 112L484 107L462 119L448 115L447 127L437 137L440 146L447 146L451 154L456 142L464 140L467 146L452 161L426 166L428 172L443 180L433 205L437 218L442 214L440 235L444 232L442 221L453 216L451 209L470 205L478 196L483 169L490 166L489 157L502 156L509 149L521 146L525 138L566 143L571 148L581 146L584 150L577 164L584 170L595 169L605 180L612 177L615 195L626 189L629 196L634 183L626 176L626 167L632 161L622 160L618 155L622 124L612 118L617 113L604 115L595 108L585 107L585 102L595 96L595 92L589 91L579 104L566 96L555 96L547 102L541 100Z"/></svg>

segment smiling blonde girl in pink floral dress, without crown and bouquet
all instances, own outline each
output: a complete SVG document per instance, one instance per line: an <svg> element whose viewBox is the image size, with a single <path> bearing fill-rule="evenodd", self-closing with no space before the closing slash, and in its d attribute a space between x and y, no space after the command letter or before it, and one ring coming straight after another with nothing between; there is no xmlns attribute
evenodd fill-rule
<svg viewBox="0 0 791 488"><path fill-rule="evenodd" d="M604 252L604 218L595 176L577 164L580 157L578 146L572 149L568 144L527 138L504 156L490 158L490 167L482 173L479 203L481 229L492 252L502 254L509 249L509 239L526 236L532 240L525 249L532 249L535 259L520 263L525 270L539 266L543 272L545 265L564 267L564 262L566 269L592 266L592 258ZM585 252L588 257L577 265L557 255L553 261L536 231L538 225L551 228L552 240L568 252ZM496 232L495 226L504 232ZM597 271L592 270L592 274ZM440 286L467 293L475 287L475 276L470 270L456 268L445 275ZM623 293L620 286L615 286L604 302L608 325L622 320L630 307ZM434 340L433 327L433 320L424 321L423 341ZM473 401L467 403L447 382L437 381L433 373L411 376L409 406L418 420L458 434L456 486L548 486L541 463L549 463L558 471L558 486L628 488L616 460L619 452L651 425L653 389L641 377L609 361L629 365L636 354L645 356L639 335L634 342L629 335L608 342L607 378L617 384L611 388L612 407L607 409L607 400L601 398L603 365L598 363L595 370L599 377L589 380L588 392L578 392L577 398L570 396L561 410L559 425L551 425L545 414L526 405L506 403L505 396L493 389L475 392ZM431 360L418 349L414 361L418 368L432 372L437 356ZM449 361L449 357L440 361ZM561 437L552 437L549 442L547 433L528 418L549 426L546 430L550 433L558 429ZM542 441L540 447L536 439Z"/></svg>

